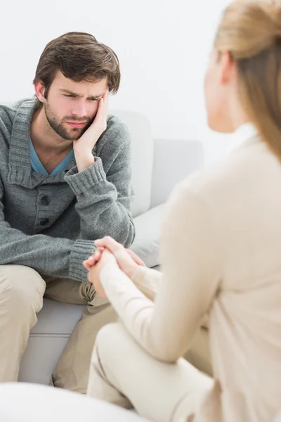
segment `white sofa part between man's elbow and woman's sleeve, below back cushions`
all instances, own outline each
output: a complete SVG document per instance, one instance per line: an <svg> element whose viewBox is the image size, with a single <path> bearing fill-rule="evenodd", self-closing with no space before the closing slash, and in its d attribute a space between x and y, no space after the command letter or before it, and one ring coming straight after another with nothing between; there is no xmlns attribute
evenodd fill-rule
<svg viewBox="0 0 281 422"><path fill-rule="evenodd" d="M159 236L164 212L165 204L162 204L133 219L136 226L136 238L130 249L141 257L149 268L160 263Z"/></svg>

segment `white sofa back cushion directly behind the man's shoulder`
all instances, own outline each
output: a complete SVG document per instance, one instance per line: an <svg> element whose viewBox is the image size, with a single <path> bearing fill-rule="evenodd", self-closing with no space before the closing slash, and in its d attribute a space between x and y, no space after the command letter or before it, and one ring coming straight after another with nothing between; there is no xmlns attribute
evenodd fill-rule
<svg viewBox="0 0 281 422"><path fill-rule="evenodd" d="M135 198L132 204L133 217L150 208L154 143L150 122L140 113L110 110L124 122L132 141L132 185Z"/></svg>

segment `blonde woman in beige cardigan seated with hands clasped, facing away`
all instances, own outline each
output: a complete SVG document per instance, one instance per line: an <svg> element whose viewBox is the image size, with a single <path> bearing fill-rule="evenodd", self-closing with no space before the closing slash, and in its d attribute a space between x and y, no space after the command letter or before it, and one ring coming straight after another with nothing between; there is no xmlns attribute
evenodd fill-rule
<svg viewBox="0 0 281 422"><path fill-rule="evenodd" d="M279 2L226 8L204 88L209 126L239 145L174 191L163 276L96 241L89 280L121 322L98 334L88 395L153 421L269 422L281 408ZM207 313L215 381L181 358Z"/></svg>

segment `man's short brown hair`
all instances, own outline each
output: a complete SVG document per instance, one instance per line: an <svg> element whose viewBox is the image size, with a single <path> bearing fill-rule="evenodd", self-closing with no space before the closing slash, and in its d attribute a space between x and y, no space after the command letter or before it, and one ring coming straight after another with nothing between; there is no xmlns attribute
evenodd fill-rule
<svg viewBox="0 0 281 422"><path fill-rule="evenodd" d="M120 69L117 55L110 47L100 44L93 35L86 32L67 32L46 45L33 80L34 84L39 80L44 83L45 97L59 70L75 82L99 82L107 77L110 92L116 94L119 89Z"/></svg>

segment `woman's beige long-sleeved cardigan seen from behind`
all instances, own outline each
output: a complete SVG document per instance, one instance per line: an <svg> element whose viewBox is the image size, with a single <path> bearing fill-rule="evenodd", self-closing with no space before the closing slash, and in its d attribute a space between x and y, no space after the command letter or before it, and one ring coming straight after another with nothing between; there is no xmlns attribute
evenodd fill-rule
<svg viewBox="0 0 281 422"><path fill-rule="evenodd" d="M188 350L209 312L220 388L215 415L205 403L195 421L270 422L281 409L281 165L251 125L235 136L242 145L174 190L163 276L139 267L133 283L120 270L117 282L109 264L101 280L133 338L164 362Z"/></svg>

